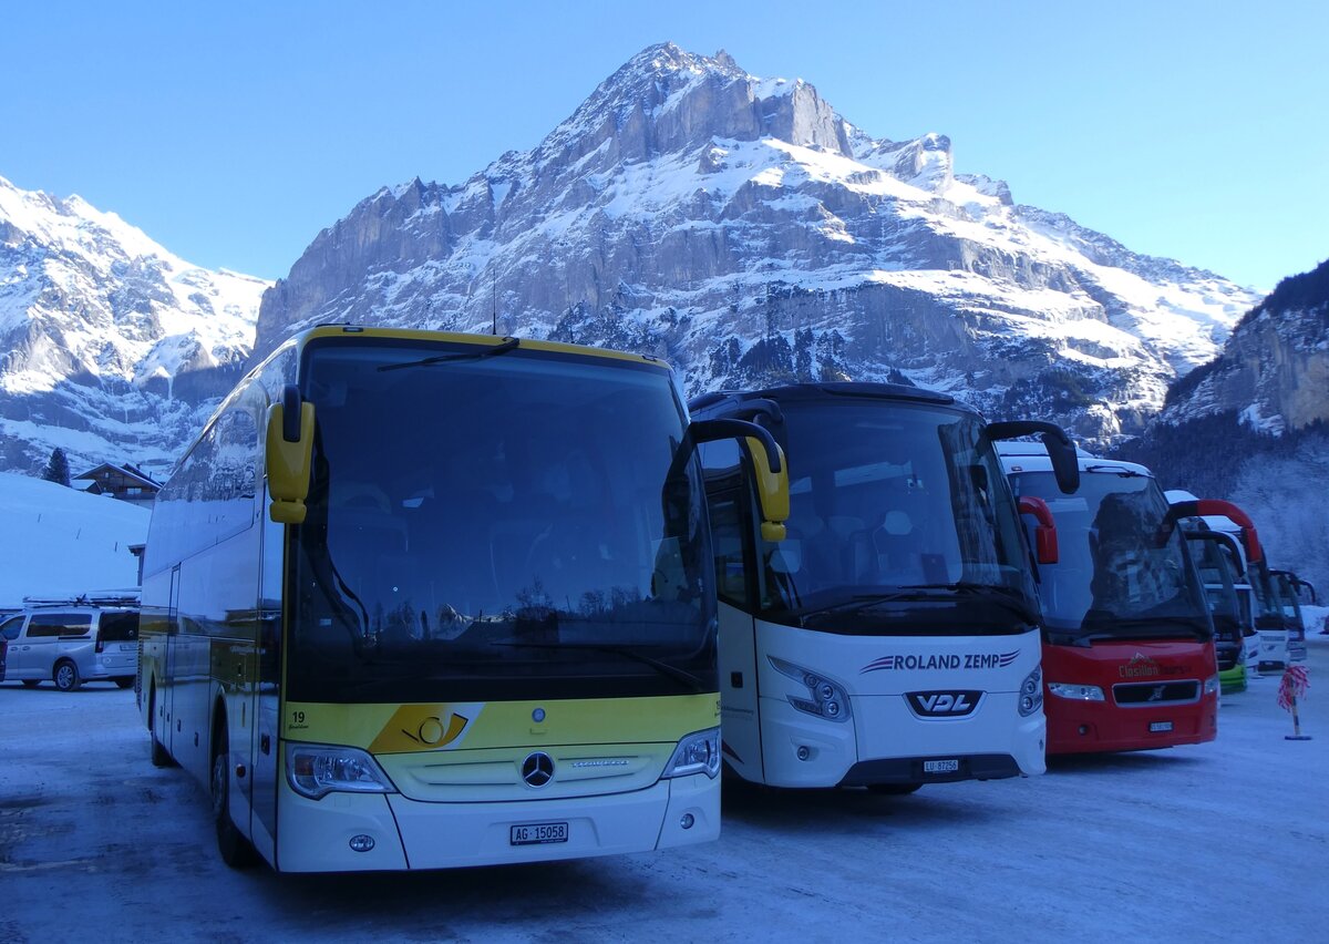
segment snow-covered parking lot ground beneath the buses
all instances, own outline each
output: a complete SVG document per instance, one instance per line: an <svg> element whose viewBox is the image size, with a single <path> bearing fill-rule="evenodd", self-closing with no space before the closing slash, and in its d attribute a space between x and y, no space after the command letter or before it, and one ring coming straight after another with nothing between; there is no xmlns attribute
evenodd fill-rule
<svg viewBox="0 0 1329 944"><path fill-rule="evenodd" d="M233 872L207 800L155 770L132 691L0 685L0 940L1324 940L1329 637L1302 730L1277 678L1216 742L1045 776L726 788L718 843L408 875Z"/></svg>

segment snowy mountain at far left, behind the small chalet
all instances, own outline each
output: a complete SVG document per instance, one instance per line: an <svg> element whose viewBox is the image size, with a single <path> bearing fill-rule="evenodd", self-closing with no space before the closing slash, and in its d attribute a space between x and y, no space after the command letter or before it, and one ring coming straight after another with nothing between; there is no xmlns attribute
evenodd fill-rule
<svg viewBox="0 0 1329 944"><path fill-rule="evenodd" d="M0 178L0 469L61 447L161 473L238 378L267 285Z"/></svg>

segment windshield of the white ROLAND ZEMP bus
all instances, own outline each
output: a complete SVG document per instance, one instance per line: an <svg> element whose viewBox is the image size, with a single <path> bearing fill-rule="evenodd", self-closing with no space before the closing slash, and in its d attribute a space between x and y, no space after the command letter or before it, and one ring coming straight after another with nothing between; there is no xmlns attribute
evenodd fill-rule
<svg viewBox="0 0 1329 944"><path fill-rule="evenodd" d="M981 419L877 399L781 404L788 540L763 617L844 634L1027 632L1037 597Z"/></svg>

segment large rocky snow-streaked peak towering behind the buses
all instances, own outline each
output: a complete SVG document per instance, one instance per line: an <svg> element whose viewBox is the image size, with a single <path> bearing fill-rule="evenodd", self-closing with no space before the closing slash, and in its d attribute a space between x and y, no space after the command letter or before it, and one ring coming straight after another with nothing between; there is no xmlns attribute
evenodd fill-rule
<svg viewBox="0 0 1329 944"><path fill-rule="evenodd" d="M536 149L320 233L264 294L254 356L318 322L497 322L663 356L690 394L905 378L1106 443L1256 300L956 173L941 134L873 138L801 80L664 44Z"/></svg>

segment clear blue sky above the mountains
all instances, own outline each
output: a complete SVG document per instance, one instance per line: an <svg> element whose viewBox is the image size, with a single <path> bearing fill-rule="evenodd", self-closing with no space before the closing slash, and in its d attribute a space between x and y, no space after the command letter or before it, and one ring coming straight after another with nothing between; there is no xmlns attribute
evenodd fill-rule
<svg viewBox="0 0 1329 944"><path fill-rule="evenodd" d="M1326 36L1324 0L3 3L0 177L278 278L377 187L529 149L672 40L1272 289L1329 258Z"/></svg>

